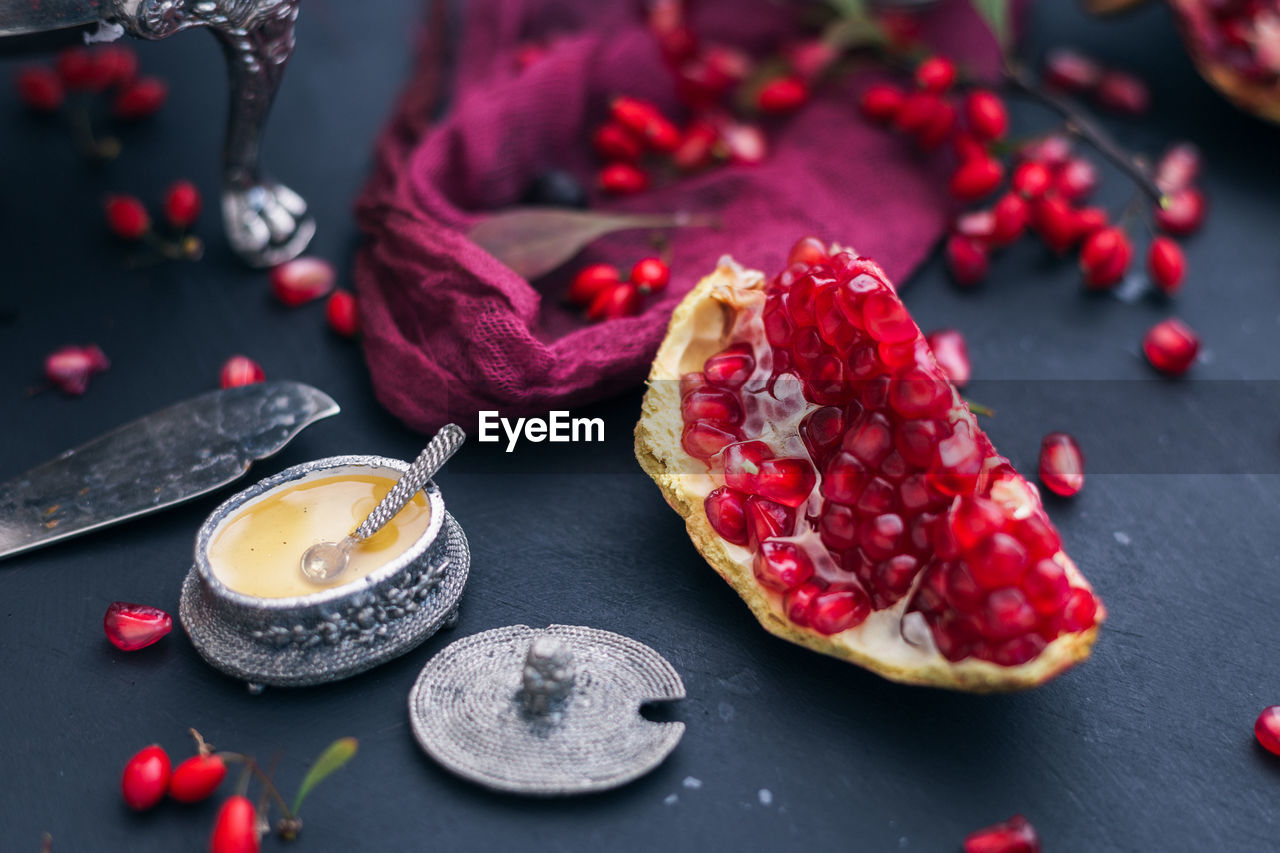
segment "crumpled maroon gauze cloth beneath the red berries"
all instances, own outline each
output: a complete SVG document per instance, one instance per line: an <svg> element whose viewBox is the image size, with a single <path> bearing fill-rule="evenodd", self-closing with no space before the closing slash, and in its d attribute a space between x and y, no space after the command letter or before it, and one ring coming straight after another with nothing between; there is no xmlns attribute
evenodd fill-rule
<svg viewBox="0 0 1280 853"><path fill-rule="evenodd" d="M772 274L792 242L815 234L876 257L901 280L946 227L938 158L858 114L858 93L876 73L867 70L824 83L803 110L767 122L764 163L713 167L627 199L593 193L593 209L714 213L722 222L668 232L671 284L639 316L588 324L562 295L573 269L607 261L626 270L652 254L646 232L600 240L567 270L532 283L468 241L472 224L517 204L547 169L591 184L599 163L590 134L611 97L644 97L685 115L639 5L434 4L357 202L365 356L378 400L410 426L470 424L481 409L543 414L635 386L672 309L722 255ZM799 35L805 5L703 0L692 22L707 41L763 56ZM449 19L458 6L461 20ZM966 0L932 9L922 36L978 73L998 61ZM530 42L545 54L521 69L516 54Z"/></svg>

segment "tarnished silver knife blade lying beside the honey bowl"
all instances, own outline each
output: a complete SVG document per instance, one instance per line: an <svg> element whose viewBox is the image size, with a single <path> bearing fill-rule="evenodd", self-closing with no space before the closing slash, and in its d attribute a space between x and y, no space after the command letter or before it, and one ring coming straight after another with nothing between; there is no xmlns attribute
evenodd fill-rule
<svg viewBox="0 0 1280 853"><path fill-rule="evenodd" d="M264 382L119 426L0 483L0 560L227 485L338 411L311 386Z"/></svg>

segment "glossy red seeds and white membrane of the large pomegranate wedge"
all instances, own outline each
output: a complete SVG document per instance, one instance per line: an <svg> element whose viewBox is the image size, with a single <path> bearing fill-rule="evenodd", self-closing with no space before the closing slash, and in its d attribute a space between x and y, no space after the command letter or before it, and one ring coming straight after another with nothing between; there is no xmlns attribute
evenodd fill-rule
<svg viewBox="0 0 1280 853"><path fill-rule="evenodd" d="M996 455L883 270L813 242L681 377L681 444L716 487L712 529L820 635L892 611L909 647L1019 666L1093 628L1097 599L1073 585L1038 493Z"/></svg>

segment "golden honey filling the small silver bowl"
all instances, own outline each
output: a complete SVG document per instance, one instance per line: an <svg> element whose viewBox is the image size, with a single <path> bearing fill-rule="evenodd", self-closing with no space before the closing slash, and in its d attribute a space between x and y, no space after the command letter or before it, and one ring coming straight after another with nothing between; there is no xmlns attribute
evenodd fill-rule
<svg viewBox="0 0 1280 853"><path fill-rule="evenodd" d="M209 543L209 565L229 589L259 598L308 596L378 571L408 551L431 521L422 493L381 530L351 549L347 570L329 583L302 575L302 552L351 533L396 485L378 474L307 478L241 507Z"/></svg>

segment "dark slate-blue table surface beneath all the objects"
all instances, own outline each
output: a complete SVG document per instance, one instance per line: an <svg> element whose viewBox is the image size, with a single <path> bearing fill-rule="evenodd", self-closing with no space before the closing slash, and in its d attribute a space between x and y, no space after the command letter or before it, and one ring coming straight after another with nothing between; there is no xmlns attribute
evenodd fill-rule
<svg viewBox="0 0 1280 853"><path fill-rule="evenodd" d="M352 199L416 15L413 3L303 10L266 152L312 204L315 251L344 266ZM35 850L44 831L64 852L204 849L214 803L137 816L116 793L134 749L160 742L183 754L188 726L224 748L279 752L288 789L324 744L358 736L357 760L305 809L298 849L315 852L955 850L968 830L1014 812L1056 853L1280 849L1280 760L1252 738L1257 712L1280 702L1280 132L1199 82L1160 6L1101 23L1074 4L1039 4L1032 41L1076 44L1144 74L1152 114L1110 126L1146 150L1202 145L1212 199L1176 305L1208 350L1194 382L1152 380L1138 356L1142 332L1174 309L1088 298L1071 263L1030 243L977 293L952 288L937 260L905 288L922 327L968 334L988 380L972 397L998 410L988 426L1016 464L1034 464L1048 429L1085 441L1093 475L1050 512L1111 611L1089 662L1038 690L975 697L893 685L773 639L631 461L636 392L579 412L608 428L608 443L579 459L471 444L442 478L474 547L461 624L346 683L253 697L205 666L180 630L134 654L104 640L110 601L175 610L195 529L221 497L0 564L0 849ZM411 457L421 438L378 407L358 348L332 338L320 306L274 305L265 277L229 256L211 210L204 263L122 269L101 193L155 197L187 175L211 195L223 120L212 40L141 53L173 101L97 170L0 87L0 476L210 388L232 352L343 406L256 474L340 452ZM1029 106L1018 117L1044 120ZM1123 204L1110 184L1105 200ZM113 368L87 396L27 397L47 351L88 341ZM556 802L493 795L438 768L410 734L410 685L451 637L515 622L588 624L652 644L689 688L673 712L687 722L684 743L622 790Z"/></svg>

